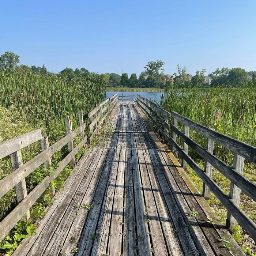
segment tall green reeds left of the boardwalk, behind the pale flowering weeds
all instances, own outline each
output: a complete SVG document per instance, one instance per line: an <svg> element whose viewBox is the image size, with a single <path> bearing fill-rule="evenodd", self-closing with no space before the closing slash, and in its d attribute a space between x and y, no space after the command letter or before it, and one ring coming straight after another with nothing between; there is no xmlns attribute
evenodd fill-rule
<svg viewBox="0 0 256 256"><path fill-rule="evenodd" d="M98 75L69 82L57 75L0 72L0 106L15 105L30 121L60 120L88 113L106 97L104 81Z"/></svg>

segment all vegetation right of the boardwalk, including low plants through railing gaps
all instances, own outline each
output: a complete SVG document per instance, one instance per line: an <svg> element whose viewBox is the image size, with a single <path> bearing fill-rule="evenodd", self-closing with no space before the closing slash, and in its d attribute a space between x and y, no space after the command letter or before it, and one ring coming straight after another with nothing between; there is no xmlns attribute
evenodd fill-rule
<svg viewBox="0 0 256 256"><path fill-rule="evenodd" d="M207 90L199 88L165 90L161 105L169 112L175 111L182 116L214 128L216 131L232 138L256 146L256 87L240 88L213 87ZM181 130L183 127L178 122ZM206 137L189 130L189 136L201 146L206 146ZM182 145L181 140L177 142ZM203 168L204 161L193 150L189 155ZM214 144L214 155L232 166L233 153L230 150ZM188 167L189 177L202 192L203 182L197 174ZM245 161L244 176L256 183L256 165ZM212 178L229 195L230 181L213 168ZM225 224L227 211L217 197L211 193L210 205ZM240 208L256 223L256 202L241 192ZM233 236L247 255L255 255L256 244L240 226L233 230Z"/></svg>

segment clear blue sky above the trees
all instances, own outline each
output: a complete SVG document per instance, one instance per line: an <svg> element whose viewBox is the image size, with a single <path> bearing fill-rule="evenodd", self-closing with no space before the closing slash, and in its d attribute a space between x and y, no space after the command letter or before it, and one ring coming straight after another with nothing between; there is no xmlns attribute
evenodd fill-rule
<svg viewBox="0 0 256 256"><path fill-rule="evenodd" d="M59 72L256 70L256 0L2 0L0 53Z"/></svg>

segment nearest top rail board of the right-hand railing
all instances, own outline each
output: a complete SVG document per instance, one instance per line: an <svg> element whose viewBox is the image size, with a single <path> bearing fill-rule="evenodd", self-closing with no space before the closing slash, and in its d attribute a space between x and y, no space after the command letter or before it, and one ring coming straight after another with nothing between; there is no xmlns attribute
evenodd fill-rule
<svg viewBox="0 0 256 256"><path fill-rule="evenodd" d="M241 142L240 140L236 140L227 135L214 131L184 116L181 116L176 112L172 112L172 116L175 117L181 123L186 124L195 131L203 134L207 138L214 140L221 146L226 147L229 150L237 153L238 155L241 155L242 157L247 158L248 160L256 163L256 147L253 147L251 145L246 144L245 142Z"/></svg>

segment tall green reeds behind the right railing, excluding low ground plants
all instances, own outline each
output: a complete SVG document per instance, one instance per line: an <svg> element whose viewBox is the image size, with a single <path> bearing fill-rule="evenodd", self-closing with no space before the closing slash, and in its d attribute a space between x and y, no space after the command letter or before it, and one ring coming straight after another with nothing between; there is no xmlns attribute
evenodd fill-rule
<svg viewBox="0 0 256 256"><path fill-rule="evenodd" d="M193 121L256 146L256 87L210 88L202 90L165 90L161 105L169 112L175 111ZM204 136L192 132L193 139L204 144ZM222 147L215 153L231 161L232 154Z"/></svg>

